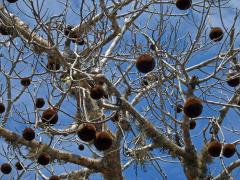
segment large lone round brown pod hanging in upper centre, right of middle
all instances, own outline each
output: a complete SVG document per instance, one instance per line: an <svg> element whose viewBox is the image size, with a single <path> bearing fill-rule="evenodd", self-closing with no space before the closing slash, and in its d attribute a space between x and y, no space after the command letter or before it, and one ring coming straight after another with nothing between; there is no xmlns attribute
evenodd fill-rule
<svg viewBox="0 0 240 180"><path fill-rule="evenodd" d="M137 58L136 67L141 73L148 73L155 67L155 60L149 54L142 54Z"/></svg>

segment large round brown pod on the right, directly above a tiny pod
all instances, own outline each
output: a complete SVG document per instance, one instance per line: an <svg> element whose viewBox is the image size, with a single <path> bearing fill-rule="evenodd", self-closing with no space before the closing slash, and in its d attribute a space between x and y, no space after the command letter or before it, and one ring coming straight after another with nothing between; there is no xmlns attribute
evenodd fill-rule
<svg viewBox="0 0 240 180"><path fill-rule="evenodd" d="M195 97L188 98L184 103L183 111L190 118L198 117L202 110L203 105L201 101Z"/></svg>

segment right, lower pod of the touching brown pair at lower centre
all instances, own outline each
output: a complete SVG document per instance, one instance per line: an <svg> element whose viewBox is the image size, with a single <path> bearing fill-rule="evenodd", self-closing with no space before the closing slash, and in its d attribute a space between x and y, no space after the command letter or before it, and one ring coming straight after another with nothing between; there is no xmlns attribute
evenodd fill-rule
<svg viewBox="0 0 240 180"><path fill-rule="evenodd" d="M111 147L113 139L110 133L102 131L98 132L94 139L94 146L99 151L105 151Z"/></svg>

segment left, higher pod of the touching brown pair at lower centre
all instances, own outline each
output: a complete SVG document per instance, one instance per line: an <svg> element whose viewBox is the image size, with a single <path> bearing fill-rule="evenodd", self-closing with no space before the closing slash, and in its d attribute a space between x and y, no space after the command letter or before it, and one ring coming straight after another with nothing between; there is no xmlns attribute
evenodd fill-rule
<svg viewBox="0 0 240 180"><path fill-rule="evenodd" d="M82 141L90 142L96 137L96 127L93 124L85 124L77 135Z"/></svg>

